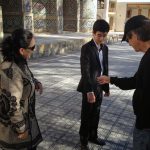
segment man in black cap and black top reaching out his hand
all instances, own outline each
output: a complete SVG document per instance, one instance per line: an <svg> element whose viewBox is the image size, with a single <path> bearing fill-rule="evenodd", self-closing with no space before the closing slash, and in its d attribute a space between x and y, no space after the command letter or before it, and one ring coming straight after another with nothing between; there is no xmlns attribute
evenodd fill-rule
<svg viewBox="0 0 150 150"><path fill-rule="evenodd" d="M111 83L123 90L135 89L133 109L136 115L133 132L134 150L150 150L150 20L138 15L130 18L124 29L123 41L136 52L143 52L139 68L133 77L101 76L100 84Z"/></svg>

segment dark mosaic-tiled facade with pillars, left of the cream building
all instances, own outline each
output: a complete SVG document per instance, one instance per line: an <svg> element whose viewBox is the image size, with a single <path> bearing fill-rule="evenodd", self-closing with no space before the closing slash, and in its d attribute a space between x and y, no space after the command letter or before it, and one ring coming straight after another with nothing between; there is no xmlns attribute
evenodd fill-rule
<svg viewBox="0 0 150 150"><path fill-rule="evenodd" d="M1 0L0 6L4 33L89 32L97 17L97 0Z"/></svg>

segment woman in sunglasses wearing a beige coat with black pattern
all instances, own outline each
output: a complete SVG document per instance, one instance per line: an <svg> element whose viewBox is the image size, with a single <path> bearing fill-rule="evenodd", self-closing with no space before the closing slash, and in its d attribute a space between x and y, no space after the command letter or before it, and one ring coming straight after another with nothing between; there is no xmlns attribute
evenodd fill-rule
<svg viewBox="0 0 150 150"><path fill-rule="evenodd" d="M4 150L36 150L42 141L35 116L35 90L42 84L28 67L35 49L30 31L16 29L2 42L0 64L0 147Z"/></svg>

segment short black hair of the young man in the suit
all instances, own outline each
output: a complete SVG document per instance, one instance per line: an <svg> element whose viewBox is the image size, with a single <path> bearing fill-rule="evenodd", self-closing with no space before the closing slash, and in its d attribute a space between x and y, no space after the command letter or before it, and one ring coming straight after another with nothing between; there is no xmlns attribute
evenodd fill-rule
<svg viewBox="0 0 150 150"><path fill-rule="evenodd" d="M99 32L109 32L109 24L104 19L98 19L93 25L93 33Z"/></svg>

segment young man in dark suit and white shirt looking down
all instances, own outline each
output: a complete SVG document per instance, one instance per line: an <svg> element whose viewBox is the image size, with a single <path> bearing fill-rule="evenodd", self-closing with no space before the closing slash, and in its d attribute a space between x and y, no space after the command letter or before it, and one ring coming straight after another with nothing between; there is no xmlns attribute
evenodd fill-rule
<svg viewBox="0 0 150 150"><path fill-rule="evenodd" d="M109 96L109 84L100 85L97 77L108 75L108 47L104 44L109 32L109 24L97 20L93 25L93 38L81 48L81 79L77 91L82 93L80 142L81 150L88 150L88 141L105 145L98 138L100 106L104 96Z"/></svg>

